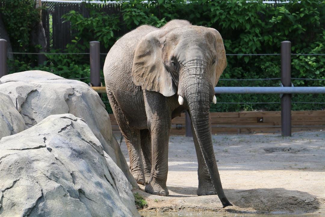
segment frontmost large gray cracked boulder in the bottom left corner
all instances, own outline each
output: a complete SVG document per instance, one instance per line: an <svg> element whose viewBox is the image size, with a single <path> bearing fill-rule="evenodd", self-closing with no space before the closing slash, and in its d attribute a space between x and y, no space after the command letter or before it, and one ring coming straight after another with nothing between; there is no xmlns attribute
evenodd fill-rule
<svg viewBox="0 0 325 217"><path fill-rule="evenodd" d="M0 140L0 216L140 216L85 120L50 115Z"/></svg>

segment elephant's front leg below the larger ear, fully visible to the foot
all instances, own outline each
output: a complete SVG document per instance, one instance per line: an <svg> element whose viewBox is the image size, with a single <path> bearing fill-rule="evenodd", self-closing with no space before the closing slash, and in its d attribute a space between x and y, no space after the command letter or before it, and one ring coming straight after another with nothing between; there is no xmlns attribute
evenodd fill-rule
<svg viewBox="0 0 325 217"><path fill-rule="evenodd" d="M154 195L168 196L166 181L171 112L166 105L166 98L158 92L144 90L144 99L152 146L151 174L145 191Z"/></svg>

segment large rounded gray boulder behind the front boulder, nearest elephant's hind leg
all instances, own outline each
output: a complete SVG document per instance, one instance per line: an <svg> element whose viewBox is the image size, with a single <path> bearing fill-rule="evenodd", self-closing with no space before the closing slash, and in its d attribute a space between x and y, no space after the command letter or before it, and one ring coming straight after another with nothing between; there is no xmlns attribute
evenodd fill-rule
<svg viewBox="0 0 325 217"><path fill-rule="evenodd" d="M17 105L28 129L49 115L70 113L84 119L104 151L137 186L123 153L112 134L110 117L98 94L81 81L69 80L44 71L26 71L0 78L0 92ZM1 138L1 137L0 137Z"/></svg>

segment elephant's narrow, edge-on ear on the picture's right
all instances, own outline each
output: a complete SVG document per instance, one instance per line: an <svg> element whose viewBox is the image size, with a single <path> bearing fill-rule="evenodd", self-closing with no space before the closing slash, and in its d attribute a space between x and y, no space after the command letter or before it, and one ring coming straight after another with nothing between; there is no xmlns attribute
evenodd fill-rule
<svg viewBox="0 0 325 217"><path fill-rule="evenodd" d="M225 51L225 47L223 44L223 40L221 38L220 33L213 29L213 28L209 28L211 30L211 32L214 35L214 39L215 39L215 51L217 53L216 56L216 64L215 64L215 79L214 79L214 87L217 85L219 78L222 74L222 72L224 71L224 69L227 66L227 59L226 59L226 51Z"/></svg>

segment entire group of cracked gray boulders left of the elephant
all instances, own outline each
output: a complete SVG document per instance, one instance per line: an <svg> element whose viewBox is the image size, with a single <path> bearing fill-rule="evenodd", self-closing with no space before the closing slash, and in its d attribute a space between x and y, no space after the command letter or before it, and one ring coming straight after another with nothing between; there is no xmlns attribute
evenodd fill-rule
<svg viewBox="0 0 325 217"><path fill-rule="evenodd" d="M140 216L136 181L87 84L5 75L0 102L0 216Z"/></svg>

